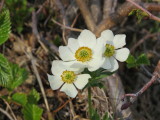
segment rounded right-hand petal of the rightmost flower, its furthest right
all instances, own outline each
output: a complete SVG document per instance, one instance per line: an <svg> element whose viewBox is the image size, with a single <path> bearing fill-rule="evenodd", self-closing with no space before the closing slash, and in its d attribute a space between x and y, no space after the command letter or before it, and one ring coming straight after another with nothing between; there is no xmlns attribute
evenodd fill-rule
<svg viewBox="0 0 160 120"><path fill-rule="evenodd" d="M127 60L129 53L130 52L128 48L122 48L122 49L116 50L114 57L120 62L124 62Z"/></svg>

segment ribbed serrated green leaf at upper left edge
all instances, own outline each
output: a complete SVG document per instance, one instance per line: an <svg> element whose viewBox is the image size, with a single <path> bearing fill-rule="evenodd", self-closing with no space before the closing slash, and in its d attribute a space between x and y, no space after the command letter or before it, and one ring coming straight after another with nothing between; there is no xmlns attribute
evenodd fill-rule
<svg viewBox="0 0 160 120"><path fill-rule="evenodd" d="M10 14L8 10L0 13L0 45L7 41L11 30Z"/></svg>

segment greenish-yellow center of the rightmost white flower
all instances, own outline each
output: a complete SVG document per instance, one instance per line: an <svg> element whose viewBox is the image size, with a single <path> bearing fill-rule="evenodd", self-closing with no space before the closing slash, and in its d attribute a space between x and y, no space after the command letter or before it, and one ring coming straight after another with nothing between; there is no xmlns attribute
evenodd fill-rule
<svg viewBox="0 0 160 120"><path fill-rule="evenodd" d="M111 57L114 55L114 53L115 53L114 46L110 44L106 44L106 50L104 52L104 56Z"/></svg>

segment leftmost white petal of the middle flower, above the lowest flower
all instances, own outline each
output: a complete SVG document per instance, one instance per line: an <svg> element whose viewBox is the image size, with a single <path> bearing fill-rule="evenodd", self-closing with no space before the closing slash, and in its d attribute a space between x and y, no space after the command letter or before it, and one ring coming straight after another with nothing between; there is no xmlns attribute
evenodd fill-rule
<svg viewBox="0 0 160 120"><path fill-rule="evenodd" d="M74 54L67 46L59 47L59 55L63 61L75 60Z"/></svg>

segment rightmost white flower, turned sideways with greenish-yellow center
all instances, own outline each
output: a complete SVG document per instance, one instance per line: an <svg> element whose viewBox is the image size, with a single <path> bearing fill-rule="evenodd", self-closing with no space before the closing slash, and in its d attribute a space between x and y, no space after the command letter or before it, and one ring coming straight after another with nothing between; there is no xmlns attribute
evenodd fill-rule
<svg viewBox="0 0 160 120"><path fill-rule="evenodd" d="M111 72L118 69L118 61L124 62L128 58L129 49L122 48L126 45L125 34L113 35L111 30L105 30L97 39L97 50L102 57L102 68Z"/></svg>

